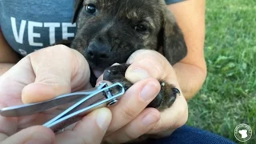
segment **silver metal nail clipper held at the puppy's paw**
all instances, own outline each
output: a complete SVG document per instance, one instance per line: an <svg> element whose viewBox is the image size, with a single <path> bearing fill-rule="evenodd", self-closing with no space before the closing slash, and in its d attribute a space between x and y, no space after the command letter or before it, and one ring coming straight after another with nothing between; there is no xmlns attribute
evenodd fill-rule
<svg viewBox="0 0 256 144"><path fill-rule="evenodd" d="M61 114L43 124L43 126L49 127L54 132L58 132L66 126L78 122L83 116L98 107L114 105L124 93L125 90L121 83L114 83L108 86L106 82L102 82L91 90L63 94L44 102L5 107L0 110L0 114L3 117L21 117L74 102L73 105L62 111Z"/></svg>

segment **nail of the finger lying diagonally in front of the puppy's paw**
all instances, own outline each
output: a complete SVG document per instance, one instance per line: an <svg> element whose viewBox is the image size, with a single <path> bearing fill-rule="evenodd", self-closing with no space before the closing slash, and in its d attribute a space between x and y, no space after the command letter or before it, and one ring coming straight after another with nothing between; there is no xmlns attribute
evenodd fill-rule
<svg viewBox="0 0 256 144"><path fill-rule="evenodd" d="M148 82L142 89L141 98L143 101L148 102L152 100L157 94L157 85L154 82Z"/></svg>

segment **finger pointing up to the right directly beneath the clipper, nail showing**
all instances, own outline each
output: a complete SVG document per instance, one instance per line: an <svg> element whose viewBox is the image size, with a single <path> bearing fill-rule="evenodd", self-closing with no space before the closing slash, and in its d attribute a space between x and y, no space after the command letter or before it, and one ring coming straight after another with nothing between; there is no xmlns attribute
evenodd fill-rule
<svg viewBox="0 0 256 144"><path fill-rule="evenodd" d="M110 125L112 115L107 108L94 110L82 118L73 130L66 130L56 136L56 143L100 144Z"/></svg>

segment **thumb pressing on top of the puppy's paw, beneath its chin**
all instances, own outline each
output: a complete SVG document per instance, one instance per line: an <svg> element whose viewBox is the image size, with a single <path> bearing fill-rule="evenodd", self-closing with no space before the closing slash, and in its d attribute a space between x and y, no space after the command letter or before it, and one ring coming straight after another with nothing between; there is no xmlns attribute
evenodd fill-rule
<svg viewBox="0 0 256 144"><path fill-rule="evenodd" d="M127 63L126 78L130 82L138 82L144 78L158 78L170 82L176 78L170 63L162 54L154 50L137 50L130 56Z"/></svg>

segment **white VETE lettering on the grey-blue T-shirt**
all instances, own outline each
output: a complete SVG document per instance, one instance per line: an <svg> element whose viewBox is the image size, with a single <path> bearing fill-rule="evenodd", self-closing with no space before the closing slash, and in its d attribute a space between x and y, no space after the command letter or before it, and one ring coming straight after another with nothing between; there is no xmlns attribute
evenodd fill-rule
<svg viewBox="0 0 256 144"><path fill-rule="evenodd" d="M74 33L69 32L69 29L76 27L76 23L71 22L34 22L18 20L18 18L14 17L10 17L10 22L16 42L20 44L27 42L30 46L40 47L54 44L56 42L57 35L59 35L60 38L64 40L67 40L68 38L74 38ZM60 30L62 31L58 31L58 27L61 27ZM42 37L45 36L45 31L49 31L49 42L43 42L42 40ZM46 40L47 38L43 39ZM22 54L25 54L23 50L19 51Z"/></svg>

